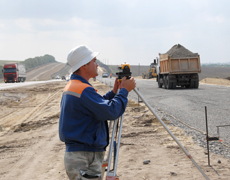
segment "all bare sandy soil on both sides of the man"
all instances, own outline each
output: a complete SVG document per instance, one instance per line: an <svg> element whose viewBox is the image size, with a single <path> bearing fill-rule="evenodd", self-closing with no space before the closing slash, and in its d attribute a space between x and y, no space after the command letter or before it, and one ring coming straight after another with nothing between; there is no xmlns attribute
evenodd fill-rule
<svg viewBox="0 0 230 180"><path fill-rule="evenodd" d="M109 90L98 81L91 83L99 93ZM65 84L0 91L0 179L67 179L65 146L58 137ZM229 159L211 154L209 167L205 149L181 129L168 127L210 179L230 178ZM150 162L143 164L146 160ZM133 101L124 114L117 175L120 180L205 179L148 109Z"/></svg>

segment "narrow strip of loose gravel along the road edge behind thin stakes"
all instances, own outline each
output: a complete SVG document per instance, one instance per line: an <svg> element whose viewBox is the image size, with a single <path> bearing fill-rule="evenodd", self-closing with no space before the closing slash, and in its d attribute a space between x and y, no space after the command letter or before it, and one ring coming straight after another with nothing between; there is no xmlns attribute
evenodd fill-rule
<svg viewBox="0 0 230 180"><path fill-rule="evenodd" d="M207 150L207 141L206 134L200 131L196 131L194 129L189 128L188 126L178 122L171 116L164 114L162 111L156 110L157 114L163 119L167 119L171 122L170 125L179 127L185 131L186 134L192 136L194 142ZM222 144L220 141L209 141L209 152L220 154L225 158L230 159L230 148Z"/></svg>

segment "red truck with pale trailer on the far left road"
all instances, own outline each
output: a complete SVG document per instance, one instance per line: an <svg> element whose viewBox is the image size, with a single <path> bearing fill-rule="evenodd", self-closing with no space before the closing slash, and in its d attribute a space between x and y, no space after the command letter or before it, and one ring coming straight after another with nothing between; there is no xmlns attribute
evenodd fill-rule
<svg viewBox="0 0 230 180"><path fill-rule="evenodd" d="M19 63L6 63L3 66L4 82L24 82L26 80L26 68Z"/></svg>

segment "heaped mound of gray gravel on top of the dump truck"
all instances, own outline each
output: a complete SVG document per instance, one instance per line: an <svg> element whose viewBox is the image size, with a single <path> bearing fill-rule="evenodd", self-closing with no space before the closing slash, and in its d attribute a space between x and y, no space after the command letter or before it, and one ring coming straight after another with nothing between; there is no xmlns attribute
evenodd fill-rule
<svg viewBox="0 0 230 180"><path fill-rule="evenodd" d="M170 50L168 50L164 54L168 54L169 57L171 58L197 57L198 56L198 53L193 53L180 44L174 45Z"/></svg>

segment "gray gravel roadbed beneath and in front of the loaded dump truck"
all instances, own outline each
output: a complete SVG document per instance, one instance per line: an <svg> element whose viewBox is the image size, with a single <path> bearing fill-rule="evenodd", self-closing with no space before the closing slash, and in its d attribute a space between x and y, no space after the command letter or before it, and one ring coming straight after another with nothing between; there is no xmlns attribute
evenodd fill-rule
<svg viewBox="0 0 230 180"><path fill-rule="evenodd" d="M99 78L99 80L108 85L113 85L114 82L114 79L110 78ZM206 106L210 135L218 136L216 126L230 125L230 87L200 84L198 89L178 87L167 90L158 88L155 80L137 79L136 83L139 92L157 114L161 114L160 116L169 114L174 116L177 122L180 120L196 129L206 131ZM129 98L137 100L137 95L131 92ZM175 118L167 116L166 119ZM225 143L230 145L230 126L221 127L220 136Z"/></svg>

